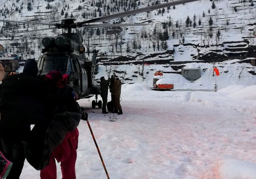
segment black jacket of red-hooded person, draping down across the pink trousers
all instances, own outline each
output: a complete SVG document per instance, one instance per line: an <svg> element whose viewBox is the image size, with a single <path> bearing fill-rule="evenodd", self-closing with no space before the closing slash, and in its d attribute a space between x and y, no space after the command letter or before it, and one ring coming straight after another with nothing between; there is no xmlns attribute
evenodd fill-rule
<svg viewBox="0 0 256 179"><path fill-rule="evenodd" d="M51 153L62 143L66 134L77 128L81 117L87 117L74 101L72 91L68 85L62 89L51 88L53 120L50 124L35 125L29 141L24 142L26 159L36 170L42 170L49 164Z"/></svg>

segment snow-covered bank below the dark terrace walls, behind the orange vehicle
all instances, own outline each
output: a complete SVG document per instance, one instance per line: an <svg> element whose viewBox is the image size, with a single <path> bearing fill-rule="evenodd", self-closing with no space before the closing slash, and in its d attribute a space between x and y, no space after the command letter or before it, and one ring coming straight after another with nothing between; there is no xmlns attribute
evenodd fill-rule
<svg viewBox="0 0 256 179"><path fill-rule="evenodd" d="M163 71L163 78L168 78L168 82L174 84L175 90L214 90L215 83L218 89L231 85L255 85L256 67L250 63L238 63L240 60L229 60L216 63L220 75L213 76L213 64L210 63L187 63L182 67L187 69L200 68L201 77L196 81L188 81L181 74L175 73L172 66L166 65L119 65L103 66L99 65L99 73L96 75L96 81L99 82L101 76L112 75L113 72L123 83L144 83L153 87L153 76L155 70ZM143 69L143 73L142 73Z"/></svg>

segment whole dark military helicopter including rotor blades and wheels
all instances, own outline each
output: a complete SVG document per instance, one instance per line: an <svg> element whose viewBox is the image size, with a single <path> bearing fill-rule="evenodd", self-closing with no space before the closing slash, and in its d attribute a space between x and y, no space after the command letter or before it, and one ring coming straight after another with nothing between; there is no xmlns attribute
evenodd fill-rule
<svg viewBox="0 0 256 179"><path fill-rule="evenodd" d="M42 40L43 55L38 59L38 76L44 76L51 70L58 70L62 74L68 74L68 84L74 89L78 94L78 99L90 98L96 95L96 100L92 101L92 108L98 106L102 107L102 101L97 101L97 95L100 94L100 87L94 85L94 76L97 72L96 69L96 56L97 51L93 51L92 60L85 57L85 47L82 44L83 39L81 35L76 32L72 32L72 29L77 31L77 28L102 28L102 27L120 27L120 26L141 26L150 25L142 23L125 23L125 24L91 24L96 22L104 22L112 19L117 19L125 16L134 15L137 13L147 12L150 10L160 9L163 7L174 6L178 4L184 4L188 2L193 2L197 0L177 0L163 4L156 4L153 6L148 6L140 9L125 11L113 15L102 16L99 18L89 19L86 21L75 22L74 18L65 18L61 23L38 23L31 21L9 21L0 19L0 22L10 22L10 23L27 23L34 25L46 25L53 26L50 28L36 29L31 31L23 32L12 32L8 34L0 35L8 36L14 34L21 34L34 31L43 31L49 29L62 29L62 34L58 37L44 37ZM87 50L89 53L89 51Z"/></svg>

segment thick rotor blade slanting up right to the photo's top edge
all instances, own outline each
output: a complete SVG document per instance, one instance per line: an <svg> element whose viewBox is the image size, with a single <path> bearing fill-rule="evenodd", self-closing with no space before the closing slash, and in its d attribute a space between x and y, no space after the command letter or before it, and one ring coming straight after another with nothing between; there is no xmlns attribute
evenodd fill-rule
<svg viewBox="0 0 256 179"><path fill-rule="evenodd" d="M163 7L174 6L174 5L183 4L183 3L189 3L189 2L193 2L193 1L198 1L198 0L177 0L177 1L172 1L172 2L169 2L169 3L156 4L154 6L143 7L141 9L135 9L135 10L125 11L125 12L112 14L112 15L108 15L108 16L103 16L103 17L100 17L100 18L90 19L90 20L87 20L87 21L76 22L75 24L77 26L81 26L84 23L109 21L109 20L112 20L112 19L117 19L117 18L121 18L121 17L125 17L125 16L130 16L130 15L141 13L141 12L147 12L147 11L150 11L150 10L160 9L160 8L163 8Z"/></svg>

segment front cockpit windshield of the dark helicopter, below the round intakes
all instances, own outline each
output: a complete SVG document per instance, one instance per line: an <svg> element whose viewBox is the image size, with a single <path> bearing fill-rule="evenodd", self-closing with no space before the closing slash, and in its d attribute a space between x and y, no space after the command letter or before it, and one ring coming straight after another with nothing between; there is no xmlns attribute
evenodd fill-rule
<svg viewBox="0 0 256 179"><path fill-rule="evenodd" d="M38 60L40 75L46 75L51 70L58 70L62 74L69 73L71 71L68 56L43 56Z"/></svg>

